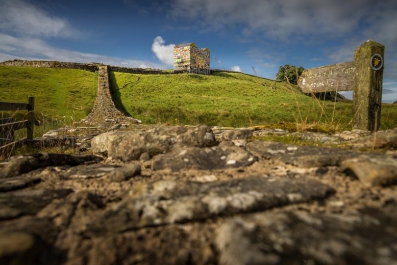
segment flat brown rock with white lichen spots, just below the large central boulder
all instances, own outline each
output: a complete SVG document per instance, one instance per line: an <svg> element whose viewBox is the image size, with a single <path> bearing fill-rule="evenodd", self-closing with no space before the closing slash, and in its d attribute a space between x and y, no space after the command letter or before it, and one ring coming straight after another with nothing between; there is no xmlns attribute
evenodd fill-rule
<svg viewBox="0 0 397 265"><path fill-rule="evenodd" d="M156 157L153 162L153 169L170 168L173 171L179 171L184 168L222 169L248 166L255 160L249 152L235 146L189 147Z"/></svg>

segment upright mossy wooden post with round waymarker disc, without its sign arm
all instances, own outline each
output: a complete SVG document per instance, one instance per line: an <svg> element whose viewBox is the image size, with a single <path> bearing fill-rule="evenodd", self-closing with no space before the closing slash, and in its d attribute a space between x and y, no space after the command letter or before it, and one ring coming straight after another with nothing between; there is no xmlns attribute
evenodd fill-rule
<svg viewBox="0 0 397 265"><path fill-rule="evenodd" d="M382 106L385 46L372 40L354 51L353 128L377 131Z"/></svg>

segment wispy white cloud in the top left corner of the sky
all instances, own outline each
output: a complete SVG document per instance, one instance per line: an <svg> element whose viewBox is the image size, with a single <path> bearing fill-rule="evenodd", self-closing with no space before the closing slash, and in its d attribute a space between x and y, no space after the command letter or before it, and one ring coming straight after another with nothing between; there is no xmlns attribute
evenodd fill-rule
<svg viewBox="0 0 397 265"><path fill-rule="evenodd" d="M71 37L77 34L67 20L24 0L0 0L0 29L13 34L44 37Z"/></svg>

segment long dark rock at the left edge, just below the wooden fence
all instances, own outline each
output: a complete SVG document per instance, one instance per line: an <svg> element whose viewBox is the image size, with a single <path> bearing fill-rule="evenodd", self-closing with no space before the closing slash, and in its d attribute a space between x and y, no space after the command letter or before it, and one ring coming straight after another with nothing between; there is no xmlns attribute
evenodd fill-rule
<svg viewBox="0 0 397 265"><path fill-rule="evenodd" d="M15 156L3 167L0 172L1 178L10 178L27 173L31 170L56 165L80 165L96 163L101 159L93 155L75 156L54 153L38 153L32 156Z"/></svg>

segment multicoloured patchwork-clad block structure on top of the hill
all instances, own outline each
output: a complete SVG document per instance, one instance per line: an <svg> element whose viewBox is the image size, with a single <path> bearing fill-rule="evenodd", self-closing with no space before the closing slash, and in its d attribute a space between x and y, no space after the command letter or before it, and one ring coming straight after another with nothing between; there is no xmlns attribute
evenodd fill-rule
<svg viewBox="0 0 397 265"><path fill-rule="evenodd" d="M174 46L174 68L177 71L210 74L210 51L198 49L194 42Z"/></svg>

